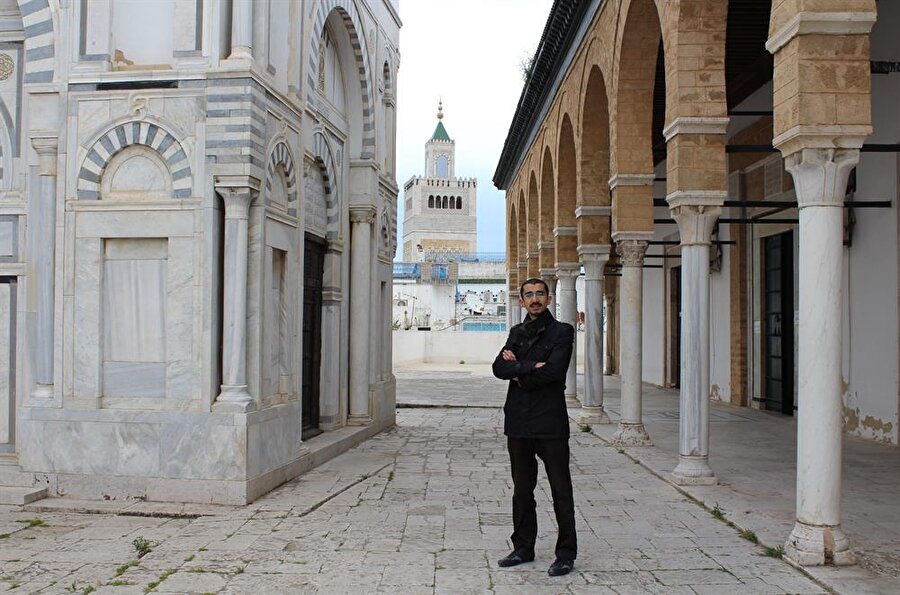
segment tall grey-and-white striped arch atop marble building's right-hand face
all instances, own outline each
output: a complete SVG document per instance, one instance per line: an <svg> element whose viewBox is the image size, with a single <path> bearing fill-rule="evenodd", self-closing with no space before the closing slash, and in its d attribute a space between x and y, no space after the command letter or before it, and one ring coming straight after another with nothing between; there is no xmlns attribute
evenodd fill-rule
<svg viewBox="0 0 900 595"><path fill-rule="evenodd" d="M372 88L369 76L368 51L366 50L366 38L363 35L363 28L359 25L360 18L356 12L353 2L346 0L322 0L319 3L319 11L316 14L316 25L313 29L313 36L310 52L309 52L309 70L306 77L306 88L311 105L315 105L312 100L313 89L317 87L316 81L319 80L319 42L325 32L325 21L332 10L337 10L347 27L350 34L350 44L353 47L353 57L356 60L356 66L359 71L359 87L362 93L362 159L375 158L375 118L374 109L372 107Z"/></svg>

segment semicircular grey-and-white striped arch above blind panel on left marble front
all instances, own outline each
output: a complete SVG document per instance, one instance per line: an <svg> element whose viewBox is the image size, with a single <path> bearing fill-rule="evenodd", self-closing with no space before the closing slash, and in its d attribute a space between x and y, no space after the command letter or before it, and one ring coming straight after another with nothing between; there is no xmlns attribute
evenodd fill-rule
<svg viewBox="0 0 900 595"><path fill-rule="evenodd" d="M150 122L125 122L100 136L88 149L78 171L77 198L100 198L100 180L113 155L131 145L144 145L159 153L172 174L172 198L189 198L191 167L187 153L174 136Z"/></svg>

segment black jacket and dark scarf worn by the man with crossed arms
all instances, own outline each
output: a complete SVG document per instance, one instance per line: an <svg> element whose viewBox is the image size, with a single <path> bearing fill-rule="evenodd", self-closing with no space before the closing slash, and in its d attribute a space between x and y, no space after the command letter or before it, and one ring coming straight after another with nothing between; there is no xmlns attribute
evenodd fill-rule
<svg viewBox="0 0 900 595"><path fill-rule="evenodd" d="M566 370L575 341L571 324L558 322L549 310L538 318L517 324L509 331L503 349L516 361L494 360L494 376L509 380L503 431L514 438L568 438ZM538 362L545 362L535 368Z"/></svg>

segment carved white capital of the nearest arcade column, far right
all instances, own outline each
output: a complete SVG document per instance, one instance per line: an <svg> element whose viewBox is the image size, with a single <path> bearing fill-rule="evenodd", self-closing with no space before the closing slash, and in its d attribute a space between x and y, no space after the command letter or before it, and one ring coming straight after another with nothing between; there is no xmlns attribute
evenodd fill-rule
<svg viewBox="0 0 900 595"><path fill-rule="evenodd" d="M847 179L857 163L857 149L803 149L785 157L784 168L797 190L797 206L843 206Z"/></svg>

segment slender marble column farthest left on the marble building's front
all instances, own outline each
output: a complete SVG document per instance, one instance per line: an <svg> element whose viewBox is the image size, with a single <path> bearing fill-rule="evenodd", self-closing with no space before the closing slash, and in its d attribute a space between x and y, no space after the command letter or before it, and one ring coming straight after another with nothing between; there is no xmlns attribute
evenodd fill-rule
<svg viewBox="0 0 900 595"><path fill-rule="evenodd" d="M35 312L35 387L32 397L53 398L53 347L56 295L56 159L59 139L56 136L36 136L31 146L38 154L39 176L37 208L34 225L34 273L37 285Z"/></svg>

